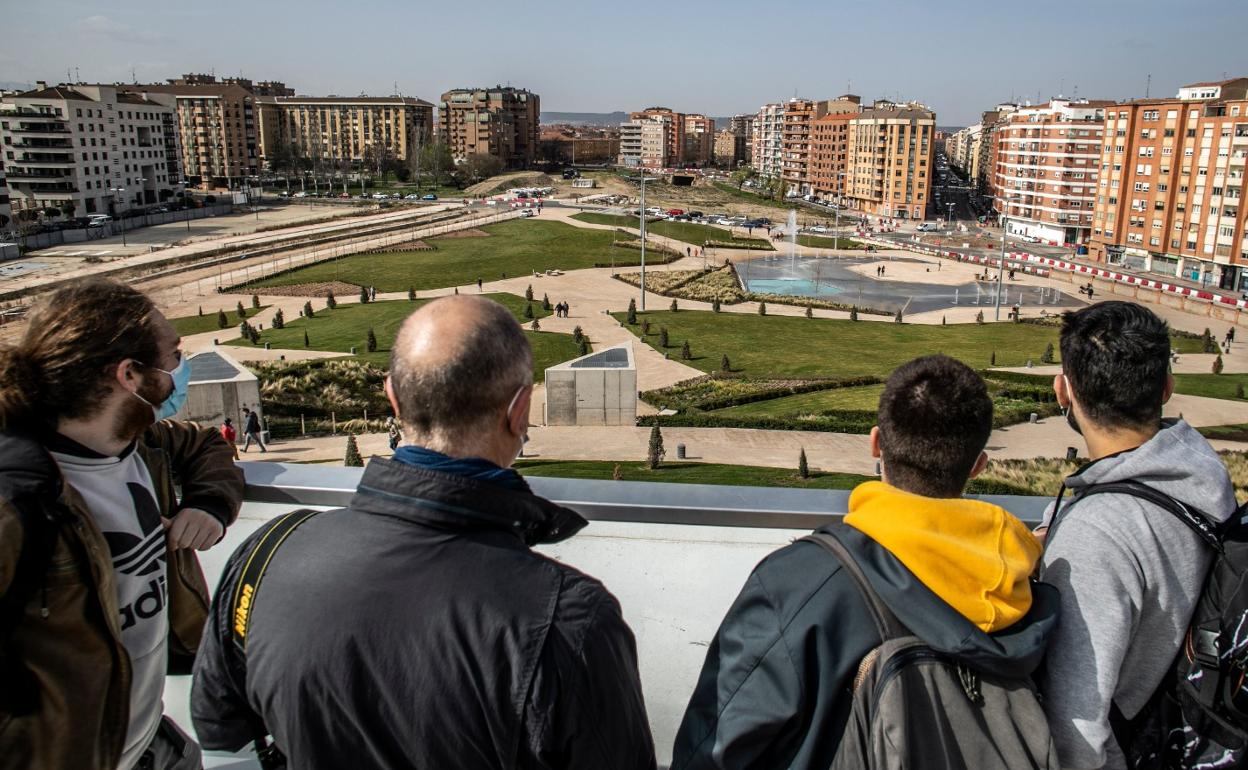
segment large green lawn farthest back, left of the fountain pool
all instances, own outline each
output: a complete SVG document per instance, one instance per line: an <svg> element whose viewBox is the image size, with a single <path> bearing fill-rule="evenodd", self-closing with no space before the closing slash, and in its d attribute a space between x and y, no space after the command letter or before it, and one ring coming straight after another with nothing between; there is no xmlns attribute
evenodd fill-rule
<svg viewBox="0 0 1248 770"><path fill-rule="evenodd" d="M478 278L532 276L534 271L552 268L582 270L613 260L622 266L640 262L640 253L634 250L612 252L615 233L605 230L535 220L510 220L482 230L492 237L439 237L427 241L437 247L434 251L353 255L258 281L251 288L337 280L393 292L464 286ZM538 281L534 278L533 291L540 296Z"/></svg>

